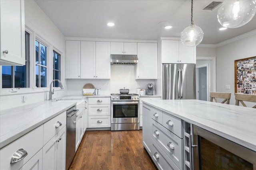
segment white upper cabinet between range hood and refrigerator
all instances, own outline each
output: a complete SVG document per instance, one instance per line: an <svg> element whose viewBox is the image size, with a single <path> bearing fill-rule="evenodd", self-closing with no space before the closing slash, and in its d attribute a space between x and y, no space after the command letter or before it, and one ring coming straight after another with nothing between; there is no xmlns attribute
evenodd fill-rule
<svg viewBox="0 0 256 170"><path fill-rule="evenodd" d="M138 43L135 79L157 79L157 43Z"/></svg>

